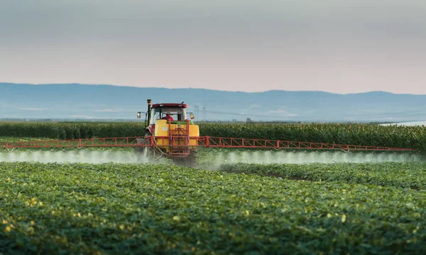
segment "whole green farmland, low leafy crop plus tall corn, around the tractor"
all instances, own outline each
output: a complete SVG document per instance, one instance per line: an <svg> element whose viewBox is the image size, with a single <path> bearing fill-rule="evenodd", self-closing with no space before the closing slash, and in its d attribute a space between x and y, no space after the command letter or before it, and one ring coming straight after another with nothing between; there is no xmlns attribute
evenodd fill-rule
<svg viewBox="0 0 426 255"><path fill-rule="evenodd" d="M121 124L0 123L0 143L141 135ZM200 148L186 168L132 148L4 150L0 255L425 254L424 127L229 128L200 125L202 135L420 153Z"/></svg>

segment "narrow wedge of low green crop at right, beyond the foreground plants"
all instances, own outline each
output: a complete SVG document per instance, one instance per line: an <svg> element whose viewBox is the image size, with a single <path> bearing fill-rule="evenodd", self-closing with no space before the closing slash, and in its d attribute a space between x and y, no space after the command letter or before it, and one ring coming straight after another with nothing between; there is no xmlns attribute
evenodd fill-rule
<svg viewBox="0 0 426 255"><path fill-rule="evenodd" d="M220 171L426 190L426 163L222 164Z"/></svg>

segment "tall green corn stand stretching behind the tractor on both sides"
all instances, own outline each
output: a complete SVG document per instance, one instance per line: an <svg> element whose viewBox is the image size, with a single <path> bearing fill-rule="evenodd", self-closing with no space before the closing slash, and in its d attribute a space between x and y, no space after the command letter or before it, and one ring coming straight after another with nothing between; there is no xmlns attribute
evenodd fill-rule
<svg viewBox="0 0 426 255"><path fill-rule="evenodd" d="M0 136L78 139L144 135L143 123L0 123ZM200 135L344 145L413 148L426 151L426 127L368 124L200 124Z"/></svg>

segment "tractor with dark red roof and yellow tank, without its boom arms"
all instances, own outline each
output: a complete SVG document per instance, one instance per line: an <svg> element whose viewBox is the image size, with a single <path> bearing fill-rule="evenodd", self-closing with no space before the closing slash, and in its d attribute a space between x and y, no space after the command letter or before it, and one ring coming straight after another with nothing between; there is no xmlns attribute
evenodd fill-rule
<svg viewBox="0 0 426 255"><path fill-rule="evenodd" d="M187 104L155 103L147 100L148 111L138 112L137 118L145 113L145 136L137 140L136 152L148 159L165 157L175 164L195 166L197 163L197 139L200 129L192 120L193 113L187 113ZM190 115L190 119L187 118ZM170 118L171 117L171 118Z"/></svg>

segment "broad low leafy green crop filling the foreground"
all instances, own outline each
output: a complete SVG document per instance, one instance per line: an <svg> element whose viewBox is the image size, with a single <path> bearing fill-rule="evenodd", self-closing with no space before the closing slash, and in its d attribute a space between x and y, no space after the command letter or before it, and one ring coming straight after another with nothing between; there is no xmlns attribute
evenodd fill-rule
<svg viewBox="0 0 426 255"><path fill-rule="evenodd" d="M426 195L170 165L0 163L0 254L422 254Z"/></svg>

